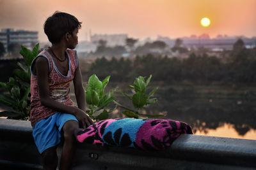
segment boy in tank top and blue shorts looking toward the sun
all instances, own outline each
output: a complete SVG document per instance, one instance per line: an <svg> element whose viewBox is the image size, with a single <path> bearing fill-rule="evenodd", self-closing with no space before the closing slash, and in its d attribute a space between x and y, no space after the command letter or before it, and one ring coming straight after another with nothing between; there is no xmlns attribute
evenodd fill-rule
<svg viewBox="0 0 256 170"><path fill-rule="evenodd" d="M42 155L44 169L56 169L56 147L64 137L60 169L70 169L75 152L74 131L93 122L84 113L85 96L76 48L81 22L68 13L56 11L47 18L44 32L52 46L31 64L31 124L33 137ZM70 81L74 83L78 108L70 100ZM78 122L79 121L79 122Z"/></svg>

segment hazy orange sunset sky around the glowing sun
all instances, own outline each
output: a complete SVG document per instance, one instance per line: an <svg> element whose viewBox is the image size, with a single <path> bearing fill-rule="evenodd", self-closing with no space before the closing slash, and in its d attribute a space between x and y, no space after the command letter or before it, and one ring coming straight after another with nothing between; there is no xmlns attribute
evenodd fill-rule
<svg viewBox="0 0 256 170"><path fill-rule="evenodd" d="M256 36L256 0L0 0L0 29L38 31L54 11L65 11L83 22L79 40L92 34L128 34L132 38L179 38L207 33ZM200 20L211 20L202 27Z"/></svg>

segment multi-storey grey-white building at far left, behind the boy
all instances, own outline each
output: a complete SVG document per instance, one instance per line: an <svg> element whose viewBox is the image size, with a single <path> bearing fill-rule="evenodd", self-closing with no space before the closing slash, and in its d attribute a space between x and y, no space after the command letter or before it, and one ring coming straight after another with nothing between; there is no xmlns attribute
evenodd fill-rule
<svg viewBox="0 0 256 170"><path fill-rule="evenodd" d="M1 29L0 42L3 43L6 52L8 51L8 45L12 43L18 43L26 46L27 48L33 48L38 43L38 32L37 31L24 31L13 29Z"/></svg>

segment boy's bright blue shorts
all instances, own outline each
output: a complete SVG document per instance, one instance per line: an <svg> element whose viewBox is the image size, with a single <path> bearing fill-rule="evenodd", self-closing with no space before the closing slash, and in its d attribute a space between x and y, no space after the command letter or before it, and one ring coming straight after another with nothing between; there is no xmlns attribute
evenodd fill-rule
<svg viewBox="0 0 256 170"><path fill-rule="evenodd" d="M76 120L78 122L74 115L60 112L36 122L33 129L33 137L40 154L47 148L57 146L60 143L61 128L68 120Z"/></svg>

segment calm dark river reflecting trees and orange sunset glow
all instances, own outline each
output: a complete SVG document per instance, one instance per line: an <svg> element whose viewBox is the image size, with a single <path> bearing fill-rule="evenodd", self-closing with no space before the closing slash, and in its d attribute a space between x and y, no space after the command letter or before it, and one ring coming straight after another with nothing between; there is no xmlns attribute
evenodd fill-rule
<svg viewBox="0 0 256 170"><path fill-rule="evenodd" d="M157 90L156 97L157 103L142 112L166 113L163 118L187 122L198 135L256 139L256 92L253 89L163 87ZM126 97L117 94L116 101L132 108ZM122 115L118 110L112 116Z"/></svg>

